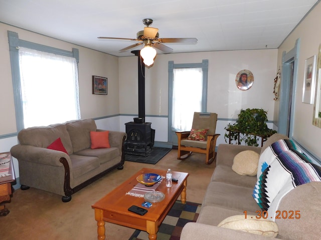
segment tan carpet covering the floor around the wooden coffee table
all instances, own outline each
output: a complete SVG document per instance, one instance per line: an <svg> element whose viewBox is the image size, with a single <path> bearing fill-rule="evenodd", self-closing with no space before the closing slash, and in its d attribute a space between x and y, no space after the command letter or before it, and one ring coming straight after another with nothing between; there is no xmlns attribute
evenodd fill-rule
<svg viewBox="0 0 321 240"><path fill-rule="evenodd" d="M14 192L10 213L0 217L0 239L97 239L97 222L91 205L142 167L189 172L187 200L202 203L215 168L215 161L205 164L205 154L193 153L185 160L177 159L177 150L171 150L156 164L125 161L124 169L108 173L72 195L70 202L61 196L30 188ZM180 199L180 198L179 198ZM127 240L134 229L108 223L106 239Z"/></svg>

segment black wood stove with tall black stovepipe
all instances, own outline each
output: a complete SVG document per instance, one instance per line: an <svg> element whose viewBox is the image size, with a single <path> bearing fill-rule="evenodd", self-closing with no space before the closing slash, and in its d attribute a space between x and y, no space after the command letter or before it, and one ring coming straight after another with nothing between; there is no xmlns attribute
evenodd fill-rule
<svg viewBox="0 0 321 240"><path fill-rule="evenodd" d="M155 130L151 122L145 122L145 64L139 50L131 51L138 56L138 117L125 123L127 139L124 145L125 154L147 156L154 144Z"/></svg>

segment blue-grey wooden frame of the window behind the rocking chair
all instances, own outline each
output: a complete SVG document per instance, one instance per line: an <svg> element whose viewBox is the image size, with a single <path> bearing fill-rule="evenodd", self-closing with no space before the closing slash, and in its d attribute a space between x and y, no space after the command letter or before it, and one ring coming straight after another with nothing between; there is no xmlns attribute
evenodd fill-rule
<svg viewBox="0 0 321 240"><path fill-rule="evenodd" d="M203 92L202 92L202 112L207 111L207 82L208 82L208 68L209 60L203 59L199 63L174 63L169 61L169 100L168 100L168 140L173 142L173 129L172 129L172 103L173 103L173 81L174 81L174 68L202 68L203 70Z"/></svg>

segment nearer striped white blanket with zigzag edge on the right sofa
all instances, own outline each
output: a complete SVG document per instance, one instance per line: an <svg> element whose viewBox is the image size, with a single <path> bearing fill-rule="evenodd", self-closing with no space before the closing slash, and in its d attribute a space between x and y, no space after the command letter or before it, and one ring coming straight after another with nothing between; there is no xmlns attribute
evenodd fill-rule
<svg viewBox="0 0 321 240"><path fill-rule="evenodd" d="M321 181L321 167L303 153L291 149L280 152L262 172L252 195L274 220L282 197L294 187L312 181Z"/></svg>

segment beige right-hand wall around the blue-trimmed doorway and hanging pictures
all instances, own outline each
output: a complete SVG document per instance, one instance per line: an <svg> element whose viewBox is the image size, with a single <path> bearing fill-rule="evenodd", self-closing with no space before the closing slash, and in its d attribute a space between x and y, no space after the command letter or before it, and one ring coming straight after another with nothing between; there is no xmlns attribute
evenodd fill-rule
<svg viewBox="0 0 321 240"><path fill-rule="evenodd" d="M321 129L312 125L313 104L302 102L302 88L305 59L317 54L321 43L320 31L321 4L317 4L314 9L304 18L304 20L285 39L278 49L277 65L282 65L282 53L288 52L294 47L296 39L300 39L298 72L294 109L293 137L302 146L313 154L321 157L320 139ZM281 79L282 80L282 79ZM278 110L279 101L275 104ZM278 111L274 114L274 120L278 118Z"/></svg>

